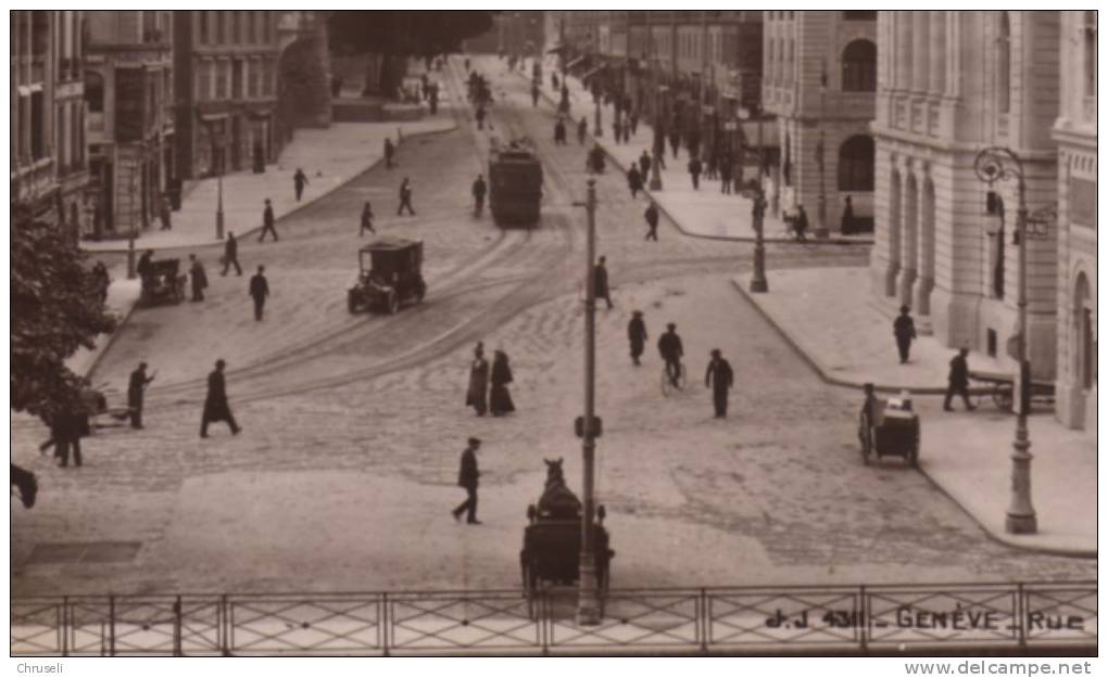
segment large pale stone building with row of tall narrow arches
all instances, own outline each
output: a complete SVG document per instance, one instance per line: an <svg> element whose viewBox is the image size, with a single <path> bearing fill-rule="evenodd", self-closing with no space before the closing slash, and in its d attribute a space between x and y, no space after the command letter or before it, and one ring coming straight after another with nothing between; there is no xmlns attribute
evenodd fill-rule
<svg viewBox="0 0 1108 678"><path fill-rule="evenodd" d="M890 312L951 347L1002 361L1016 330L1017 265L1028 248L1033 374L1054 376L1057 230L1014 242L1016 181L989 187L977 153L1022 158L1026 202L1057 194L1058 14L1036 11L883 11L878 21L874 293ZM992 194L992 195L991 195Z"/></svg>

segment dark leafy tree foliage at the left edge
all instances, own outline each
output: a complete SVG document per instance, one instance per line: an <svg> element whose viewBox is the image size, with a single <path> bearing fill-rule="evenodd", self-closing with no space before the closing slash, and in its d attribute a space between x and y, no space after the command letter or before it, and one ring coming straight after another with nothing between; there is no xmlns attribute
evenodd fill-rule
<svg viewBox="0 0 1108 678"><path fill-rule="evenodd" d="M65 358L115 330L84 254L55 226L11 210L11 408L51 416L75 407L80 377Z"/></svg>

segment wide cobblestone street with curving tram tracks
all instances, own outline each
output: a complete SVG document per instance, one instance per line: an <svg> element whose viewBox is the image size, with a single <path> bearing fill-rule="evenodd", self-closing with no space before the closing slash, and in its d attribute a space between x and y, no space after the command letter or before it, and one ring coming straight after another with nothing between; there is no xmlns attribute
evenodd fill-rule
<svg viewBox="0 0 1108 678"><path fill-rule="evenodd" d="M12 457L39 476L39 504L12 510L14 594L505 588L520 585L525 510L543 459L564 458L581 486L584 148L551 142L553 115L527 85L491 75L491 131L406 140L378 167L278 222L280 241L240 244L246 275L218 275L203 303L137 310L93 374L125 393L140 361L157 372L146 428L85 439L85 466L58 469L37 420L12 421ZM450 64L460 92L461 60ZM526 134L545 161L543 221L501 230L471 215L469 187L489 136ZM643 140L643 145L646 142ZM402 177L416 217L397 217ZM287 190L287 187L281 188ZM614 587L1094 578L1095 560L993 542L917 471L864 467L853 392L821 382L731 283L751 246L688 238L663 220L643 240L642 197L598 177L598 253L612 310L597 312L598 497L616 551ZM394 316L351 315L358 213L380 233L422 239L428 296ZM769 247L771 265L859 265L862 246ZM255 322L247 278L273 296ZM640 367L627 355L633 310L649 332ZM654 348L667 322L685 341L688 387L664 397ZM472 347L512 358L517 410L476 418L464 403ZM711 417L708 352L735 368L729 418ZM197 429L204 377L228 363L237 437ZM458 457L484 444L479 515L455 524ZM37 546L136 542L130 560L35 557ZM1014 555L1018 555L1014 557ZM109 559L110 560L110 559Z"/></svg>

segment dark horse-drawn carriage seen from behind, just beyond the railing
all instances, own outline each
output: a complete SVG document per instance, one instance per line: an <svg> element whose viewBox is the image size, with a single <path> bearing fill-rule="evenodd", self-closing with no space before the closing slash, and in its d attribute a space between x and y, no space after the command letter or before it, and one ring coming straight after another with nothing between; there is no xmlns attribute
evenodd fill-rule
<svg viewBox="0 0 1108 678"><path fill-rule="evenodd" d="M581 513L582 504L565 484L562 460L546 461L546 488L537 507L527 507L530 524L523 531L520 569L527 608L535 614L534 601L538 587L548 584L571 585L581 578ZM593 523L596 554L596 585L604 611L604 593L608 588L611 562L616 552L608 547L608 531L604 529L604 505L596 509Z"/></svg>

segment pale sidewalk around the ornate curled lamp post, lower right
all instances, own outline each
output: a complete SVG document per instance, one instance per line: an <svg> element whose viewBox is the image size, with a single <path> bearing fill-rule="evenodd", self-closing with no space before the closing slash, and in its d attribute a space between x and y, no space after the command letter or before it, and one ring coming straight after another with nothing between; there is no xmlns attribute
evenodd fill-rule
<svg viewBox="0 0 1108 678"><path fill-rule="evenodd" d="M869 272L861 268L770 270L770 291L751 294L749 277L736 288L781 335L832 384L860 388L873 382L883 390L910 389L922 420L920 470L957 502L994 539L1006 544L1065 555L1097 554L1097 441L1067 429L1046 408L1028 418L1032 498L1038 533L1005 532L1010 500L1012 439L1015 418L998 410L988 396L966 413L940 408L946 390L947 364L954 352L931 336L912 343L912 358L901 365L892 322L869 300ZM972 369L1010 372L978 354Z"/></svg>

